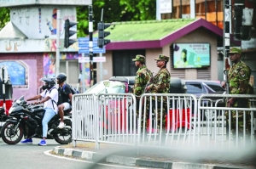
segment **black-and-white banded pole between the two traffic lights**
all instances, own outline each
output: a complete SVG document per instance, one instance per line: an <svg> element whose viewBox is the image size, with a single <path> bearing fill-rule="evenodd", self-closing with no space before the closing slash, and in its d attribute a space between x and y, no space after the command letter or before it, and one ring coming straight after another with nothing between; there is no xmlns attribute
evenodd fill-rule
<svg viewBox="0 0 256 169"><path fill-rule="evenodd" d="M89 56L90 56L90 86L91 82L93 82L93 20L92 20L92 6L89 6Z"/></svg>

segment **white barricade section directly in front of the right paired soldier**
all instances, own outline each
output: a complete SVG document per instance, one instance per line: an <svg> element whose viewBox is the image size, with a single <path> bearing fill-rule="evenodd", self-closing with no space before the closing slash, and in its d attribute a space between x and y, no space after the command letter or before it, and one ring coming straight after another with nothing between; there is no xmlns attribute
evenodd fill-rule
<svg viewBox="0 0 256 169"><path fill-rule="evenodd" d="M139 104L138 145L194 145L196 116L197 100L192 94L145 93Z"/></svg>

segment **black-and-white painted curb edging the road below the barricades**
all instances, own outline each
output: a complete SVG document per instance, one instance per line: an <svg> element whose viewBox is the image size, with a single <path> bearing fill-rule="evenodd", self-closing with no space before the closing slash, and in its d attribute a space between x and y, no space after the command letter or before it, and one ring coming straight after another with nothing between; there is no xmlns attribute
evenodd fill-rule
<svg viewBox="0 0 256 169"><path fill-rule="evenodd" d="M245 167L229 167L229 166L216 166L212 164L198 164L189 162L172 162L172 161L149 161L134 157L125 157L120 155L103 155L92 151L83 151L75 149L61 149L55 147L53 149L56 155L67 155L70 157L81 158L86 161L104 161L113 164L126 165L126 166L145 166L163 169L245 169Z"/></svg>

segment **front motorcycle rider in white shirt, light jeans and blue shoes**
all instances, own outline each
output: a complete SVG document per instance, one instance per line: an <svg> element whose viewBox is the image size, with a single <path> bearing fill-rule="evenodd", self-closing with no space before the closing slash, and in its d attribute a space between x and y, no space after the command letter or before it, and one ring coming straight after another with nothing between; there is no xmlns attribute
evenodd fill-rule
<svg viewBox="0 0 256 169"><path fill-rule="evenodd" d="M46 144L46 136L48 131L48 122L52 117L54 117L58 113L57 104L58 102L58 89L55 87L55 77L43 77L41 81L44 82L44 92L27 99L26 101L41 99L39 102L34 102L33 104L43 104L44 103L44 118L42 121L43 125L43 138L38 145L47 145ZM43 98L43 99L42 99ZM31 136L28 131L28 136ZM21 141L22 144L32 144L32 138L26 138L24 141Z"/></svg>

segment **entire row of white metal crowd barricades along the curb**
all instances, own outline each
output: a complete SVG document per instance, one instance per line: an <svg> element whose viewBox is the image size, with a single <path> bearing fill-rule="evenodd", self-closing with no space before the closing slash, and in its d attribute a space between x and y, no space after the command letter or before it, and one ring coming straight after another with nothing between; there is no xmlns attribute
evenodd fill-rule
<svg viewBox="0 0 256 169"><path fill-rule="evenodd" d="M214 99L219 97L247 98L252 106L227 108L223 99ZM249 138L253 145L255 100L255 95L204 94L196 99L193 94L145 93L137 102L131 93L75 94L73 146L76 141L89 141L96 143L96 149L101 143L176 148L237 147L240 140L245 145L247 128L243 128L241 138L234 138L229 120L232 112L242 112L244 116L249 112ZM243 120L244 124L247 120Z"/></svg>

